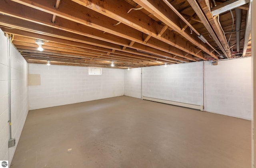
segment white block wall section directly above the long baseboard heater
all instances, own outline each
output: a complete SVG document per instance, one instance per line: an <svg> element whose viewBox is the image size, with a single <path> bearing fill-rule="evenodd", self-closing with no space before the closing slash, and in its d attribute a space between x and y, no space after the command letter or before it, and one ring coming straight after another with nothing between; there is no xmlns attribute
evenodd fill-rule
<svg viewBox="0 0 256 168"><path fill-rule="evenodd" d="M203 105L202 62L142 68L142 96Z"/></svg>

